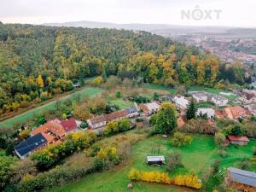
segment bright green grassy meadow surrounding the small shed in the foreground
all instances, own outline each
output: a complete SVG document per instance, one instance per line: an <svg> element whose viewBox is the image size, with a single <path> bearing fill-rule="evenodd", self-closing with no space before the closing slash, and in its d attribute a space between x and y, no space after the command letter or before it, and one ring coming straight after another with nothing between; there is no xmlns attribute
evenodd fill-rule
<svg viewBox="0 0 256 192"><path fill-rule="evenodd" d="M236 166L239 160L244 156L251 157L253 146L256 141L252 141L245 147L235 148L230 146L228 148L228 156L221 160L221 168L229 166ZM133 145L131 151L131 159L127 160L124 165L116 166L111 171L99 172L90 174L78 182L67 183L61 187L49 189L45 191L50 192L122 192L130 191L126 189L128 183L128 173L131 168L136 168L139 171L165 171L163 166L148 166L145 163L147 155L163 154L167 157L173 150L181 152L183 157L183 168L178 168L170 173L170 176L178 173L184 174L186 172L195 172L202 176L207 172L207 168L212 165L214 160L219 158L218 148L215 147L213 137L193 136L192 143L184 148L173 148L170 138L149 137ZM253 167L256 171L256 168ZM178 186L169 186L156 183L133 183L134 189L131 191L155 192L155 191L196 191L189 188L182 188Z"/></svg>

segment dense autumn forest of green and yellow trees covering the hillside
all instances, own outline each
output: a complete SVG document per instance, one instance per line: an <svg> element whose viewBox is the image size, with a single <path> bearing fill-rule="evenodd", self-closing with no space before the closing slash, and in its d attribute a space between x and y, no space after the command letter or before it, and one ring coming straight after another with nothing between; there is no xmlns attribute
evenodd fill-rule
<svg viewBox="0 0 256 192"><path fill-rule="evenodd" d="M44 102L96 76L166 86L245 83L240 63L221 64L195 47L148 32L1 22L0 72L0 115Z"/></svg>

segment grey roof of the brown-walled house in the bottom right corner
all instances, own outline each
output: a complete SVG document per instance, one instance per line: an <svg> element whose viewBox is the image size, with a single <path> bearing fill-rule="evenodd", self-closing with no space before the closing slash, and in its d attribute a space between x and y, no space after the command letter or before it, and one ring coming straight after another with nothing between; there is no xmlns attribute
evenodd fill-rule
<svg viewBox="0 0 256 192"><path fill-rule="evenodd" d="M256 187L256 173L230 167L230 176L237 183Z"/></svg>

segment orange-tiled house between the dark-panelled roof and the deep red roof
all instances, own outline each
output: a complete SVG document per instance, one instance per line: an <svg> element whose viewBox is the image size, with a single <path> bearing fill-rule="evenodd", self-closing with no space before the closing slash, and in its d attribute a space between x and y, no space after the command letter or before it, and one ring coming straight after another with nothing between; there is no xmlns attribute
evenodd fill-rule
<svg viewBox="0 0 256 192"><path fill-rule="evenodd" d="M54 119L32 130L30 134L34 136L38 133L50 133L54 135L57 139L63 139L64 137L66 137L67 131L61 125L61 120Z"/></svg>

